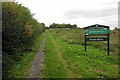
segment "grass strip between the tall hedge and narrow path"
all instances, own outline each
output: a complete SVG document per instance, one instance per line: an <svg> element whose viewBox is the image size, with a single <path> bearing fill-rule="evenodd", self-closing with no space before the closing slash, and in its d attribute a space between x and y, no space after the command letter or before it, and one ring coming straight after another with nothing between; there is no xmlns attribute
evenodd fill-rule
<svg viewBox="0 0 120 80"><path fill-rule="evenodd" d="M38 35L34 40L34 45L32 51L30 52L20 52L24 54L21 61L12 66L9 71L8 78L25 78L25 73L31 67L31 61L34 59L35 54L38 52L40 45L42 44L44 33Z"/></svg>

